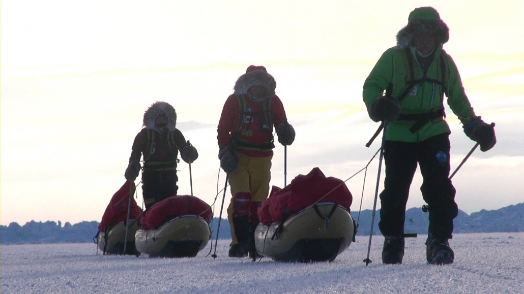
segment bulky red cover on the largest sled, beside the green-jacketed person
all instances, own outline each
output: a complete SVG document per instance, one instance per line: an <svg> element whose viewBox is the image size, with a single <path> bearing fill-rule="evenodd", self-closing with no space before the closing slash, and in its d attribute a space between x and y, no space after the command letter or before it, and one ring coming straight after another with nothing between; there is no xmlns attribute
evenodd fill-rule
<svg viewBox="0 0 524 294"><path fill-rule="evenodd" d="M273 186L269 198L258 208L258 218L264 225L279 223L285 214L292 216L317 201L338 203L350 211L353 196L343 180L326 177L315 167L305 176L298 175L283 189Z"/></svg>

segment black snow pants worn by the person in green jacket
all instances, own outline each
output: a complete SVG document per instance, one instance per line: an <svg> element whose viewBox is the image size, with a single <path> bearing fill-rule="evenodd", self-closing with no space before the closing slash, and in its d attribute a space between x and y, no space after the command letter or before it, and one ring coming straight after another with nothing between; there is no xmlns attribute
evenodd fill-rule
<svg viewBox="0 0 524 294"><path fill-rule="evenodd" d="M385 236L404 232L409 187L418 163L423 177L420 190L429 207L428 233L436 239L451 239L453 219L459 208L455 203L455 188L449 179L449 134L435 135L416 143L386 141L384 160L386 179L380 193L380 232Z"/></svg>

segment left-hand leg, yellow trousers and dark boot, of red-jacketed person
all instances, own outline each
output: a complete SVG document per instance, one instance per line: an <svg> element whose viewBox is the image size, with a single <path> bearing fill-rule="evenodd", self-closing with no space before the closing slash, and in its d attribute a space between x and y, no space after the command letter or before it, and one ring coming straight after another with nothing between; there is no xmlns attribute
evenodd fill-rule
<svg viewBox="0 0 524 294"><path fill-rule="evenodd" d="M250 157L239 153L238 169L229 175L231 202L227 208L227 220L231 229L230 257L247 256L249 243L249 191L248 164Z"/></svg>

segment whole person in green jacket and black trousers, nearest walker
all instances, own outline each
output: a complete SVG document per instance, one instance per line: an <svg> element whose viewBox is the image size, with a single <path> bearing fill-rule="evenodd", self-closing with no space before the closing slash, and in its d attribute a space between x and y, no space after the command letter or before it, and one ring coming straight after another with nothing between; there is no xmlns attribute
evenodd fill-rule
<svg viewBox="0 0 524 294"><path fill-rule="evenodd" d="M408 25L397 33L397 46L384 52L364 83L369 117L387 123L386 179L378 224L385 237L385 264L402 263L406 203L417 164L423 177L420 190L429 210L427 261L453 263L448 240L459 209L449 178L451 131L444 120L444 94L464 132L482 151L496 143L494 127L475 115L459 71L442 49L448 40L449 28L434 8L414 9Z"/></svg>

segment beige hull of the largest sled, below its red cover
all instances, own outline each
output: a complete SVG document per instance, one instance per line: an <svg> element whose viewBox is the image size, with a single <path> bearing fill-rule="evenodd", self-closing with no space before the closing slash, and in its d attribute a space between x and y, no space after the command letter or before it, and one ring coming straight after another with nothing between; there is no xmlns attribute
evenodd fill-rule
<svg viewBox="0 0 524 294"><path fill-rule="evenodd" d="M319 203L282 223L258 224L258 254L282 262L334 261L354 238L350 213L335 203Z"/></svg>

